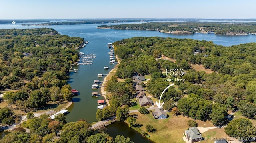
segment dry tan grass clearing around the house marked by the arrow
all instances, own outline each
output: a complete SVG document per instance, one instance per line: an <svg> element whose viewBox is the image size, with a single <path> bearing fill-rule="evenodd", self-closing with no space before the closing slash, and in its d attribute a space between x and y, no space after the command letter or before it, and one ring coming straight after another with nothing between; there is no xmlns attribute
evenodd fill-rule
<svg viewBox="0 0 256 143"><path fill-rule="evenodd" d="M140 128L143 131L146 131L146 125L150 124L153 125L156 129L155 133L148 133L150 135L149 139L156 142L156 143L184 143L182 140L182 133L186 129L188 129L188 120L191 118L184 117L182 115L179 116L173 116L171 113L167 114L169 117L167 119L157 120L154 119L152 116L151 111L147 115L142 115L139 112L132 113L131 115L137 114L136 116L137 120L136 123L139 125L142 125ZM146 121L146 122L145 122ZM198 123L198 126L204 126L204 127L211 127L212 124L210 121L196 121Z"/></svg>

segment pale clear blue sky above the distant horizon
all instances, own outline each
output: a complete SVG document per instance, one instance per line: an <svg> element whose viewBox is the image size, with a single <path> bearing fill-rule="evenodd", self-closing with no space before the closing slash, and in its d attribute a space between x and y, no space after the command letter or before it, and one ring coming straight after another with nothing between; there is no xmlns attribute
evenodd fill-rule
<svg viewBox="0 0 256 143"><path fill-rule="evenodd" d="M256 18L256 0L0 0L0 19Z"/></svg>

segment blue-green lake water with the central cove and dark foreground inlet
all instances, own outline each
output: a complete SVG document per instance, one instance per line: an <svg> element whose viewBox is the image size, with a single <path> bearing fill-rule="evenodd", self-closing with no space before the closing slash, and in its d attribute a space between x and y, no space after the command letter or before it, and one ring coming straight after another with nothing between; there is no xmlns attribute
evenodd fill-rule
<svg viewBox="0 0 256 143"><path fill-rule="evenodd" d="M138 23L138 22L132 22ZM141 22L142 23L142 22ZM118 24L118 23L116 23ZM122 23L124 24L124 23ZM256 35L214 35L214 34L202 34L196 33L193 35L173 35L168 33L161 33L158 31L140 31L140 30L114 30L114 29L97 29L96 27L101 24L84 24L84 25L56 25L47 26L54 28L58 32L64 35L82 37L89 43L86 47L79 49L79 51L85 54L97 54L97 58L93 60L92 65L79 65L74 68L78 68L78 72L71 72L68 84L72 88L78 90L80 95L75 96L74 103L67 109L70 113L66 115L68 122L78 121L78 119L85 119L89 123L95 122L97 111L97 100L104 99L102 96L98 98L92 98L92 92L100 93L100 89L92 90L91 86L94 79L103 81L103 78L98 78L97 74L108 72L114 68L114 65L109 64L108 52L110 49L107 47L107 43L113 43L114 41L136 37L136 36L159 36L159 37L176 37L176 38L190 38L198 40L213 41L213 43L224 46L238 45L241 43L256 42ZM104 24L106 25L106 24ZM113 24L108 24L113 25ZM21 24L10 25L0 24L0 28L40 28L43 26L28 26L24 27ZM104 70L105 66L109 66L109 70ZM110 135L112 137L117 134L130 137L135 143L149 142L146 138L143 138L136 131L130 129L125 123L114 123L108 126ZM121 127L120 127L121 126ZM140 140L142 139L142 140Z"/></svg>

